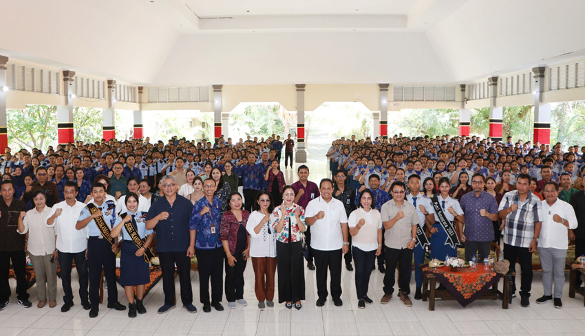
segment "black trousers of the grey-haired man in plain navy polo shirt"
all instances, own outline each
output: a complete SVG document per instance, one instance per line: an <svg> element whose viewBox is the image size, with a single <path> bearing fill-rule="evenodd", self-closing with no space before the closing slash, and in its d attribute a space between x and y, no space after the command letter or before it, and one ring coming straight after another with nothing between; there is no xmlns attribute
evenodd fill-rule
<svg viewBox="0 0 585 336"><path fill-rule="evenodd" d="M193 303L193 289L191 289L191 258L185 251L158 252L160 271L162 272L162 292L164 304L175 305L175 265L179 283L181 285L182 304ZM198 262L200 262L198 260Z"/></svg>

